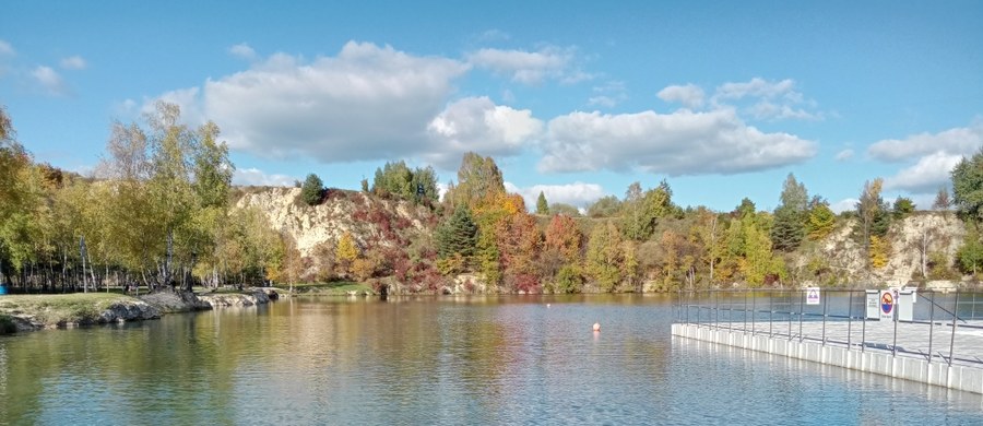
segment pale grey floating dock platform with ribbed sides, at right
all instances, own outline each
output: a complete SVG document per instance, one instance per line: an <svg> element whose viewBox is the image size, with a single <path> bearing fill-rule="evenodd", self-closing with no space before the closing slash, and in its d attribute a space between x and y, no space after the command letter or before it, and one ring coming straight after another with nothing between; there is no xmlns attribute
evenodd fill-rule
<svg viewBox="0 0 983 426"><path fill-rule="evenodd" d="M981 320L955 333L951 321L708 321L675 323L673 335L983 394Z"/></svg>

